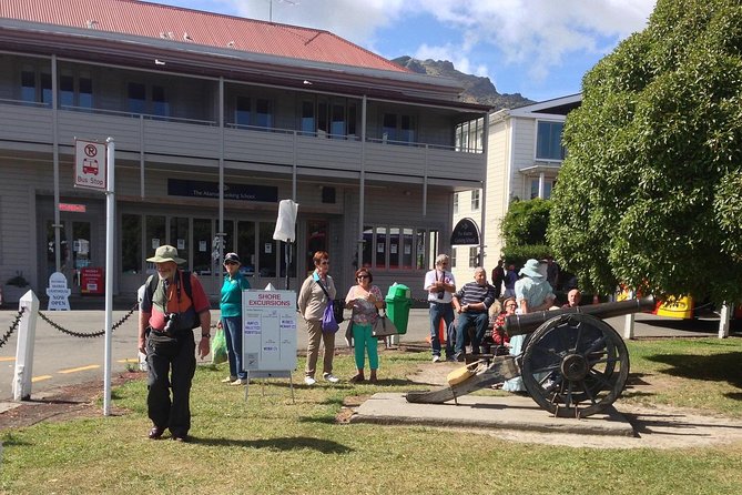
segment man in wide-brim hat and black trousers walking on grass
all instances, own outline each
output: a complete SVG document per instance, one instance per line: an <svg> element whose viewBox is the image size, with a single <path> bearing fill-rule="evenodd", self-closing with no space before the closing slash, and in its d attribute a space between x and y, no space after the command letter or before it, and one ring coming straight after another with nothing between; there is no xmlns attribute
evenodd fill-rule
<svg viewBox="0 0 742 495"><path fill-rule="evenodd" d="M149 364L149 437L157 440L169 428L173 440L187 442L196 370L193 329L201 326L199 355L203 358L210 351L209 299L195 275L179 270L185 260L172 245L161 245L146 261L157 270L145 283L139 312L139 351L146 354Z"/></svg>

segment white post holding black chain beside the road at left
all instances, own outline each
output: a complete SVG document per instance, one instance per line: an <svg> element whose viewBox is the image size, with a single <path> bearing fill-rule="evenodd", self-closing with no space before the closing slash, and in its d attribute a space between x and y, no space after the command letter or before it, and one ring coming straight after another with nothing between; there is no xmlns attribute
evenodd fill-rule
<svg viewBox="0 0 742 495"><path fill-rule="evenodd" d="M13 375L13 400L31 398L31 378L33 376L33 342L37 334L37 314L39 299L29 291L18 302L18 310L23 310L18 325L18 346L16 347L16 373Z"/></svg>

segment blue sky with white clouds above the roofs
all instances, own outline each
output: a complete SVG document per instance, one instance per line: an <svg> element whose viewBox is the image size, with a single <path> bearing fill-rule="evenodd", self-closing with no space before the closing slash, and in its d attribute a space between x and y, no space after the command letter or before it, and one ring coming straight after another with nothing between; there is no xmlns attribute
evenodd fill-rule
<svg viewBox="0 0 742 495"><path fill-rule="evenodd" d="M632 32L655 0L150 0L323 29L387 59L449 60L500 93L543 101Z"/></svg>

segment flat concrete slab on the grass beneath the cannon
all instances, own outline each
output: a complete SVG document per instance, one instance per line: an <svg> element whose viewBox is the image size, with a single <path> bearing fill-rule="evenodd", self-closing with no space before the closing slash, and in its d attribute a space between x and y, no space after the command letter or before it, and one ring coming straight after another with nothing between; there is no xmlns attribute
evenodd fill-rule
<svg viewBox="0 0 742 495"><path fill-rule="evenodd" d="M614 407L575 420L553 417L530 397L466 395L445 404L410 404L404 394L378 393L364 402L350 423L416 424L485 430L512 430L581 435L634 436L629 421Z"/></svg>

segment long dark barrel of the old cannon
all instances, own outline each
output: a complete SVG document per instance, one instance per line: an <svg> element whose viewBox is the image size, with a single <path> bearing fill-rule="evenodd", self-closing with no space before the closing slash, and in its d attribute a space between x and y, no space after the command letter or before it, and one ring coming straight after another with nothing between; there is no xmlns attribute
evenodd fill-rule
<svg viewBox="0 0 742 495"><path fill-rule="evenodd" d="M654 309L654 296L648 295L641 299L630 299L617 303L591 304L577 307L565 307L559 310L536 311L528 314L514 314L505 319L505 331L508 335L522 335L533 332L541 324L562 314L582 313L597 316L601 320L624 314L638 313Z"/></svg>

